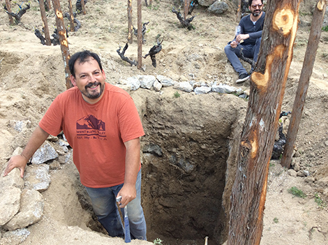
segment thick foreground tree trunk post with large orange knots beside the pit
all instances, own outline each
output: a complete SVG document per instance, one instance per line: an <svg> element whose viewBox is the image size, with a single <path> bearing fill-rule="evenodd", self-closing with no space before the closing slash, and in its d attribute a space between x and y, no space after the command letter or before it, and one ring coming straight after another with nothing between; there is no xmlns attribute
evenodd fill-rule
<svg viewBox="0 0 328 245"><path fill-rule="evenodd" d="M267 176L297 32L299 0L268 1L239 144L228 245L260 244Z"/></svg>

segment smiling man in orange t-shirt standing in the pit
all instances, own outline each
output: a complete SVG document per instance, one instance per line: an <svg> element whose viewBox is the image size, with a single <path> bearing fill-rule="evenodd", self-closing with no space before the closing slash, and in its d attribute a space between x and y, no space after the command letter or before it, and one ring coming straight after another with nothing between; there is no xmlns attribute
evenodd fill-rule
<svg viewBox="0 0 328 245"><path fill-rule="evenodd" d="M24 168L49 135L64 132L73 148L73 161L80 172L98 221L112 237L124 237L116 205L127 206L131 237L146 240L141 207L140 137L144 135L131 96L105 82L97 54L77 52L70 57L70 81L74 85L54 99L22 154L8 161L4 175Z"/></svg>

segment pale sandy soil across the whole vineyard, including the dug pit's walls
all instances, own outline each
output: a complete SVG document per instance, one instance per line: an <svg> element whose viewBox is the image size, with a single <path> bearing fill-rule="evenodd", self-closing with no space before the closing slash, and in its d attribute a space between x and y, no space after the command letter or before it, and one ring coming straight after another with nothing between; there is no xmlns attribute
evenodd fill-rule
<svg viewBox="0 0 328 245"><path fill-rule="evenodd" d="M4 0L0 0L1 6ZM197 6L188 31L180 27L172 6L179 1L142 1L142 20L148 22L143 55L158 38L164 38L163 50L151 59L142 59L143 70L122 61L117 50L127 37L127 1L89 0L87 15L77 15L82 27L68 32L70 54L91 50L100 55L107 82L119 83L133 75L165 75L177 82L195 80L211 84L229 84L249 89L249 82L235 84L237 73L225 57L223 48L232 40L237 25L234 3L230 10L213 15ZM13 4L13 2L12 2ZM24 3L25 4L25 3ZM292 110L311 23L314 0L301 1L299 29L282 110ZM68 12L68 3L61 1ZM75 8L74 8L75 9ZM18 10L12 7L13 12ZM54 31L54 13L47 13L50 34ZM66 26L69 21L65 20ZM137 4L133 1L133 24L137 26ZM22 16L21 24L10 26L8 16L0 12L0 169L17 147L24 147L38 121L54 98L66 90L64 62L59 46L40 43L33 29L42 29L37 1ZM126 57L137 60L137 37ZM318 180L328 177L328 34L323 31L313 68L304 113L301 118L295 159L308 177L292 177L280 161L271 161L267 200L264 210L262 245L328 244L328 188ZM250 66L245 64L248 68ZM195 95L164 88L130 91L142 117L146 135L142 149L149 144L161 147L163 156L142 154L142 204L148 225L148 241L160 238L162 244L221 244L226 239L225 206L222 205L229 151L235 147L243 124L247 101L232 94ZM288 124L285 121L286 124ZM285 120L284 119L284 120ZM16 121L27 122L18 133ZM235 138L234 138L235 139ZM87 196L72 162L51 170L52 183L45 198L43 218L28 230L21 244L124 244L103 234L94 221ZM297 198L290 188L297 187L306 198ZM94 230L94 231L92 231ZM1 230L1 235L4 234ZM274 241L274 242L273 242ZM133 241L131 244L147 244Z"/></svg>

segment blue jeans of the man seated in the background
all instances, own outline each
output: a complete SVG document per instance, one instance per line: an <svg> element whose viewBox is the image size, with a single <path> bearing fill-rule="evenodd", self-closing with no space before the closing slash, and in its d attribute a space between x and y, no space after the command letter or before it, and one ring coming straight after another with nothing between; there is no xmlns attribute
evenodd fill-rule
<svg viewBox="0 0 328 245"><path fill-rule="evenodd" d="M255 45L237 45L237 47L231 47L230 44L226 45L224 48L225 54L227 55L230 63L234 70L237 71L239 75L243 73L247 73L246 69L241 65L238 57L240 57L240 50L243 49L244 57L246 58L253 58L253 61L258 61L258 52L260 52L260 45L261 45L262 38L256 39ZM253 67L252 69L253 70Z"/></svg>

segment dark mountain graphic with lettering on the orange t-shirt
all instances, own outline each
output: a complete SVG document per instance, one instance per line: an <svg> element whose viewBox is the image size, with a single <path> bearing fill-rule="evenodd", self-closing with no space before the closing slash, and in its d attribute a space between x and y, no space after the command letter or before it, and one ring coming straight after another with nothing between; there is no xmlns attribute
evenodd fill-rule
<svg viewBox="0 0 328 245"><path fill-rule="evenodd" d="M105 138L105 122L89 114L76 121L76 133L77 139Z"/></svg>

